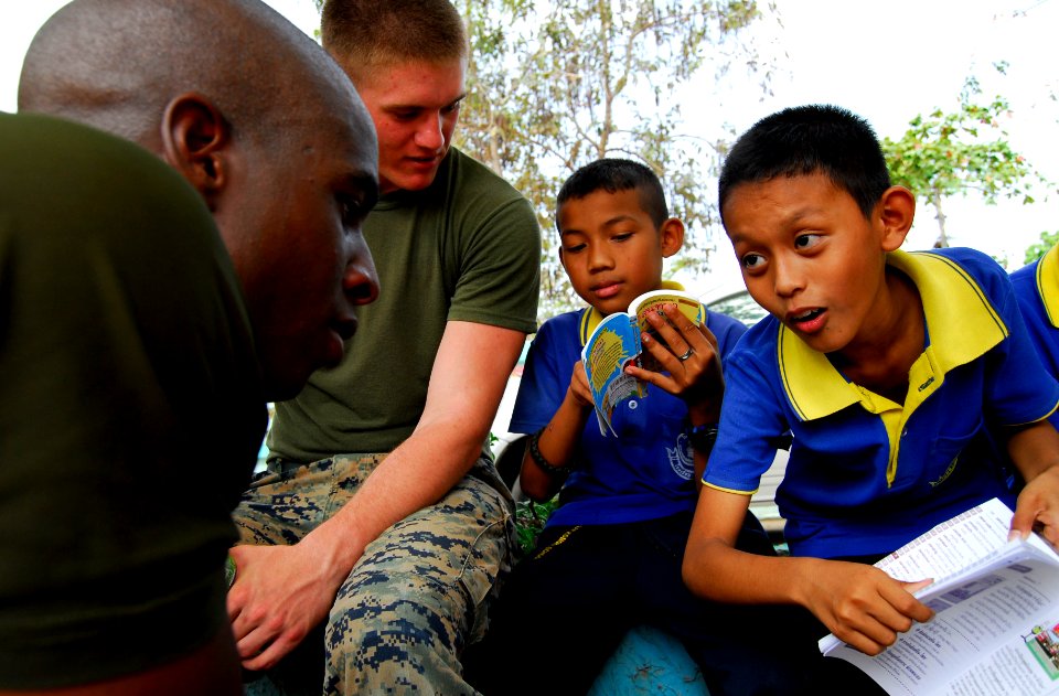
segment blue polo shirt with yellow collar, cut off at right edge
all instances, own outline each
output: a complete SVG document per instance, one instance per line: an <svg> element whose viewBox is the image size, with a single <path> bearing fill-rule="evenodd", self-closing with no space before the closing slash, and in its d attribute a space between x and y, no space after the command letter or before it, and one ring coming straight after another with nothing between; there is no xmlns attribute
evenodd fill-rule
<svg viewBox="0 0 1059 696"><path fill-rule="evenodd" d="M1059 247L1013 272L1012 285L1040 361L1059 376ZM1059 428L1059 411L1048 420Z"/></svg>

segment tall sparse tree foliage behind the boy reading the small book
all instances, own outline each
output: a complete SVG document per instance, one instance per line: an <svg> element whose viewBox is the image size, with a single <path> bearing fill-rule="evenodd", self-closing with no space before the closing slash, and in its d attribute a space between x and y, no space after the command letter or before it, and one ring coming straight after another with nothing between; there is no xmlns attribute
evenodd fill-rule
<svg viewBox="0 0 1059 696"><path fill-rule="evenodd" d="M579 304L558 261L554 201L578 167L601 157L651 165L672 214L693 232L685 259L705 266L716 229L716 147L681 135L670 95L700 68L741 56L752 0L462 0L470 29L468 98L458 143L533 203L545 231L542 319ZM698 251L691 253L692 250Z"/></svg>

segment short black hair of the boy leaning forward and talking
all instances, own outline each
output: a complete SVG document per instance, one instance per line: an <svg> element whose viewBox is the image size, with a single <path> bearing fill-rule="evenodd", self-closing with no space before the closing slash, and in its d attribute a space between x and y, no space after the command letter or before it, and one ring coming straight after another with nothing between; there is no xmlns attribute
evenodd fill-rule
<svg viewBox="0 0 1059 696"><path fill-rule="evenodd" d="M882 148L865 119L837 106L792 107L759 120L731 148L717 186L721 222L737 185L817 172L853 196L865 217L890 188Z"/></svg>

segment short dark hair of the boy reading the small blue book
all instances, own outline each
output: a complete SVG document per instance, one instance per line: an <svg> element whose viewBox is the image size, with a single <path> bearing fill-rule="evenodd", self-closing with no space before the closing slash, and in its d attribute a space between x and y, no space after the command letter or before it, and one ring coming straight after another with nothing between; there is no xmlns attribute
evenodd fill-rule
<svg viewBox="0 0 1059 696"><path fill-rule="evenodd" d="M665 192L662 182L650 167L633 160L603 158L596 160L570 174L555 201L555 226L559 226L559 208L569 200L585 196L603 190L607 193L618 193L635 189L640 193L640 206L651 217L655 227L661 227L670 211L665 205ZM561 233L563 231L559 229Z"/></svg>

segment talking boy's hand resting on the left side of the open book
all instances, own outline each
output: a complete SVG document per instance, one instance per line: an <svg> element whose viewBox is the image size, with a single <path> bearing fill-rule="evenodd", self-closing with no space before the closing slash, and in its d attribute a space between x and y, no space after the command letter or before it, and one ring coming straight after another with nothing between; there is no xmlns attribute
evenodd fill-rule
<svg viewBox="0 0 1059 696"><path fill-rule="evenodd" d="M879 654L913 621L934 615L912 597L932 580L901 582L875 566L839 560L820 560L814 568L805 606L835 638L865 654Z"/></svg>

